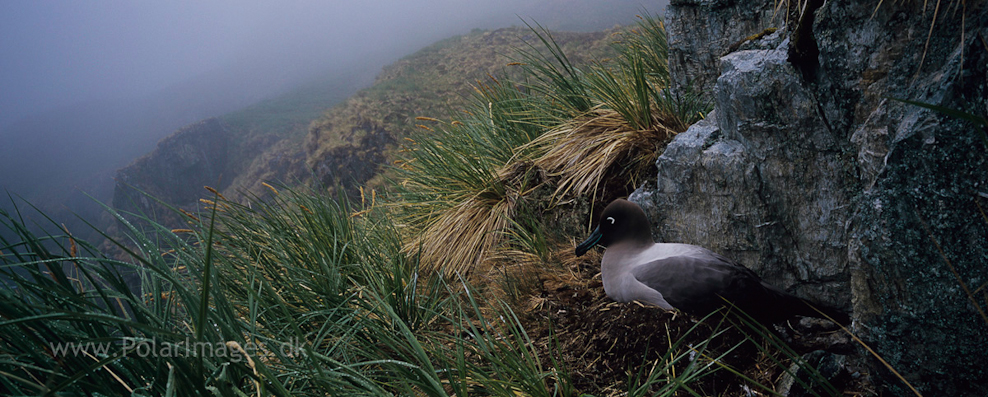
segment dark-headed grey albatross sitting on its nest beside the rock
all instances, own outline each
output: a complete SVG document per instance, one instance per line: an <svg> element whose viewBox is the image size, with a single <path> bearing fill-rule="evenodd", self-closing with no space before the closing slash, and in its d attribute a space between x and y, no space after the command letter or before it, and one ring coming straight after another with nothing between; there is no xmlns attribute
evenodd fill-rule
<svg viewBox="0 0 988 397"><path fill-rule="evenodd" d="M618 302L637 300L699 317L734 305L765 325L797 315L823 318L821 312L841 324L849 322L846 314L793 296L706 248L655 243L645 211L628 200L604 208L576 255L596 245L607 248L600 270L604 292Z"/></svg>

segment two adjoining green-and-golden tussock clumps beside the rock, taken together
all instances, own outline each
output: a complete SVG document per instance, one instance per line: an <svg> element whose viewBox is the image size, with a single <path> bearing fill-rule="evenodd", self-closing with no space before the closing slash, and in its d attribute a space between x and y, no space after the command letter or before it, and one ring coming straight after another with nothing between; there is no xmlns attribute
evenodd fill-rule
<svg viewBox="0 0 988 397"><path fill-rule="evenodd" d="M580 66L548 31L529 28L537 42L510 64L523 77L478 83L465 116L419 131L400 161L405 251L446 274L489 270L485 261L511 249L504 236L534 224L519 217L538 217L525 207L540 187L558 203L599 200L608 179L638 183L661 147L709 111L698 96L665 90L658 18L621 34L617 58Z"/></svg>

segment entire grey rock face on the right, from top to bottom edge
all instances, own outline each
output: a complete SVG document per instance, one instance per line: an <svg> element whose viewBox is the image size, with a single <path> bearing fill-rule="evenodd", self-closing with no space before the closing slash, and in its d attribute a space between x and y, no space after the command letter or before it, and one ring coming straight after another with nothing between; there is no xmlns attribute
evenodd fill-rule
<svg viewBox="0 0 988 397"><path fill-rule="evenodd" d="M932 4L816 3L810 29L766 19L772 1L673 2L672 80L712 87L715 111L669 144L656 181L632 199L658 239L710 247L791 292L853 309L853 331L924 394L981 395L984 131L889 98L988 113L988 10L941 10L928 38ZM779 30L710 56L767 27ZM811 68L790 62L796 31L819 48ZM871 360L863 350L861 359ZM912 393L871 365L887 393Z"/></svg>

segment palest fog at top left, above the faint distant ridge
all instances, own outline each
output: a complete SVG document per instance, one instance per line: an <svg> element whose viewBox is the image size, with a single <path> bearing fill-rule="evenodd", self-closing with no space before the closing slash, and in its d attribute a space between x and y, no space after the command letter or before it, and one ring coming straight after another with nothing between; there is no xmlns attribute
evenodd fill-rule
<svg viewBox="0 0 988 397"><path fill-rule="evenodd" d="M523 3L497 4L510 10ZM477 5L4 2L0 125L41 109L146 95L216 71L239 76L247 93L299 83L328 65L399 51L499 13Z"/></svg>

